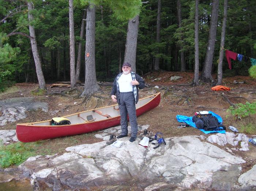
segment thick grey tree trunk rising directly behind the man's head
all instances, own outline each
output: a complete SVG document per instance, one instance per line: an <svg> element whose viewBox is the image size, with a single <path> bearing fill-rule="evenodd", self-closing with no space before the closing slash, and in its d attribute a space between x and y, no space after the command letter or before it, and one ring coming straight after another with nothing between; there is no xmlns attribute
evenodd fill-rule
<svg viewBox="0 0 256 191"><path fill-rule="evenodd" d="M125 43L124 62L129 62L136 73L136 49L139 29L139 15L129 20Z"/></svg>

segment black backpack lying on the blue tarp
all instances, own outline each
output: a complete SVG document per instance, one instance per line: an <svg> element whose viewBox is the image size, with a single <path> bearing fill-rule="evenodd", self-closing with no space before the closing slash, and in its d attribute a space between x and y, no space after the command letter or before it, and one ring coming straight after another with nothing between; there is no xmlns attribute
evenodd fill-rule
<svg viewBox="0 0 256 191"><path fill-rule="evenodd" d="M226 127L218 122L217 117L209 114L197 114L192 117L192 121L196 124L198 129L204 129L207 131L211 130L222 130L219 127L222 127L226 130Z"/></svg>

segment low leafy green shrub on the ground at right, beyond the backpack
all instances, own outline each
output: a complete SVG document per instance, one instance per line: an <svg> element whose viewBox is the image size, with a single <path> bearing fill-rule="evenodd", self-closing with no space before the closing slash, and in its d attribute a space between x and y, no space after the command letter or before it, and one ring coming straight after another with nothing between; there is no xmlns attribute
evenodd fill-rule
<svg viewBox="0 0 256 191"><path fill-rule="evenodd" d="M227 109L227 112L230 112L232 116L236 119L242 119L245 117L249 117L251 114L256 113L256 102L249 103L246 102L245 104L235 104L236 107L230 106Z"/></svg>

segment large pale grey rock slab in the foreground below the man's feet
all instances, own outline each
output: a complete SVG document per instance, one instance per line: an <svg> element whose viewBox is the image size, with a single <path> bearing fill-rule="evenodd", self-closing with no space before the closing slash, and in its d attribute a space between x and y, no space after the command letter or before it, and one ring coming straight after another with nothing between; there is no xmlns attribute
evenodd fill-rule
<svg viewBox="0 0 256 191"><path fill-rule="evenodd" d="M133 187L153 190L165 188L240 189L246 182L238 177L243 159L198 139L196 136L165 139L166 145L153 149L119 139L120 148L106 141L68 147L60 156L30 157L19 169L39 186L46 183L53 190L67 187L117 189L136 180ZM252 174L255 172L252 172ZM251 175L252 176L252 175ZM161 184L160 184L161 183ZM248 184L255 186L254 183Z"/></svg>

